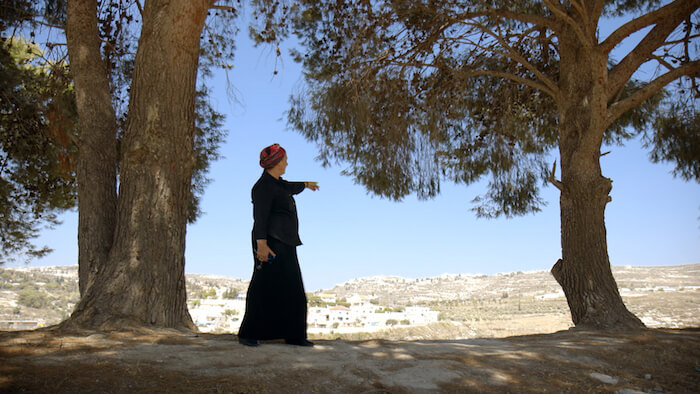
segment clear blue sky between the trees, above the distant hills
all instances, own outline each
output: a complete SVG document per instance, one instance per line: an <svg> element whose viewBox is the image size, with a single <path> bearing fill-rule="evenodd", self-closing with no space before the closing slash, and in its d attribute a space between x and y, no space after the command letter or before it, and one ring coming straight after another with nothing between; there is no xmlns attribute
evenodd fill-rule
<svg viewBox="0 0 700 394"><path fill-rule="evenodd" d="M342 167L322 168L314 160L316 146L289 130L285 120L290 93L303 85L300 66L289 58L280 64L269 48L252 48L246 34L237 46L228 82L223 72L212 81L213 104L227 115L229 136L221 149L225 158L211 168L205 214L187 231L187 273L250 278L250 188L262 171L260 150L275 142L289 155L286 179L321 186L296 198L307 291L362 276L549 270L561 256L559 194L551 186L543 190L549 205L542 212L485 220L470 210L484 184L445 183L433 200L409 196L392 202L368 195L340 175ZM227 86L237 100L228 98ZM700 185L673 178L670 164L652 164L638 141L605 150L612 151L601 159L603 175L613 180L606 210L611 263L700 262ZM62 226L38 240L54 253L31 266L77 264L77 213L62 219Z"/></svg>

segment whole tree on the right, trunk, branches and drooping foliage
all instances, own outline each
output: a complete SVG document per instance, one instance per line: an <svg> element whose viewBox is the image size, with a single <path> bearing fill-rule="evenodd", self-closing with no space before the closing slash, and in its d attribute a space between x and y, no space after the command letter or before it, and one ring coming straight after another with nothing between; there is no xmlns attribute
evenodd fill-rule
<svg viewBox="0 0 700 394"><path fill-rule="evenodd" d="M640 328L610 269L601 146L642 135L652 160L700 180L699 4L302 1L291 12L308 86L289 122L325 165L347 163L346 174L393 199L490 175L476 214L511 217L539 210L540 185L553 184L562 258L552 274L574 324ZM629 20L599 37L611 16ZM643 38L615 59L635 33ZM556 161L549 169L557 151L560 179Z"/></svg>

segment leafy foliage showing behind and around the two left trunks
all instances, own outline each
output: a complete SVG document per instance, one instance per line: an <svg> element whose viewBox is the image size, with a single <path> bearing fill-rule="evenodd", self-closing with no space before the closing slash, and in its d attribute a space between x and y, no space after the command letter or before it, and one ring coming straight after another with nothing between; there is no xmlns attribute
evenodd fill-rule
<svg viewBox="0 0 700 394"><path fill-rule="evenodd" d="M140 29L137 2L121 0L100 1L98 22L102 62L109 75L110 101L116 117L116 146L118 150L127 118L129 87L133 73L134 48ZM199 72L205 78L211 68L224 66L233 56L233 41L224 39L236 31L235 24L221 23L237 15L233 8L210 19L207 41L202 48ZM42 224L57 224L56 213L77 204L77 113L71 75L68 71L64 36L65 1L29 2L14 0L0 8L2 31L2 112L0 146L2 146L2 182L0 193L0 234L3 259L17 257L29 260L50 252L36 248L31 239L38 235ZM25 42L18 38L31 38ZM41 40L39 40L41 37ZM58 40L58 42L57 42ZM41 49L41 47L43 49ZM200 215L200 196L209 182L206 173L219 156L218 148L225 137L223 116L208 102L208 89L200 79L195 100L195 165L191 181L188 222ZM112 149L110 148L110 149ZM118 166L117 166L118 171ZM84 172L85 173L85 172ZM86 173L85 173L86 174ZM87 176L87 175L86 175ZM88 195L89 197L89 195ZM83 199L87 199L85 196ZM86 218L84 216L84 218ZM86 246L80 254L80 289L85 290L91 272L97 270L90 245L94 228L83 221ZM94 234L95 239L104 237ZM99 240L98 240L99 241Z"/></svg>

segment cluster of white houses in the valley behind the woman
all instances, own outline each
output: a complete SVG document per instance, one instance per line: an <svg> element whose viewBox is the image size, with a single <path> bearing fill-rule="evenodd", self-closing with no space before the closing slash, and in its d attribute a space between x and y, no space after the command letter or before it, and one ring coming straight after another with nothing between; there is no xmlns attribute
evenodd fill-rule
<svg viewBox="0 0 700 394"><path fill-rule="evenodd" d="M190 305L192 320L203 332L237 332L245 312L245 293L234 299L205 298ZM218 297L218 295L217 295ZM371 332L393 326L422 326L438 321L438 312L427 307L392 309L353 295L338 303L334 294L320 294L327 306L311 306L307 324L310 333Z"/></svg>

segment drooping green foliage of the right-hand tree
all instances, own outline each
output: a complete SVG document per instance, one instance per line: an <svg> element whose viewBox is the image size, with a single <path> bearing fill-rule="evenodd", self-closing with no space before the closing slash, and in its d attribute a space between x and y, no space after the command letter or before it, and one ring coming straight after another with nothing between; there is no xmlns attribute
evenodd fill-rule
<svg viewBox="0 0 700 394"><path fill-rule="evenodd" d="M623 0L600 11L627 14L658 4ZM564 12L578 18L574 8ZM343 173L371 193L396 200L433 197L443 181L490 178L487 193L474 199L478 216L539 210L559 143L551 86L561 82L561 29L553 26L573 19L536 1L305 0L289 13L305 48L294 54L307 87L292 96L288 121L318 145L323 165L346 165ZM697 57L688 46L697 37L696 19L657 51L664 67ZM697 85L686 84L686 96L697 95ZM632 79L614 101L645 86ZM604 140L622 143L649 127L661 130L656 119L668 113L669 100L677 96L661 91L640 100ZM668 130L686 143L686 135ZM680 160L680 174L698 161L679 141L659 138L654 155Z"/></svg>

